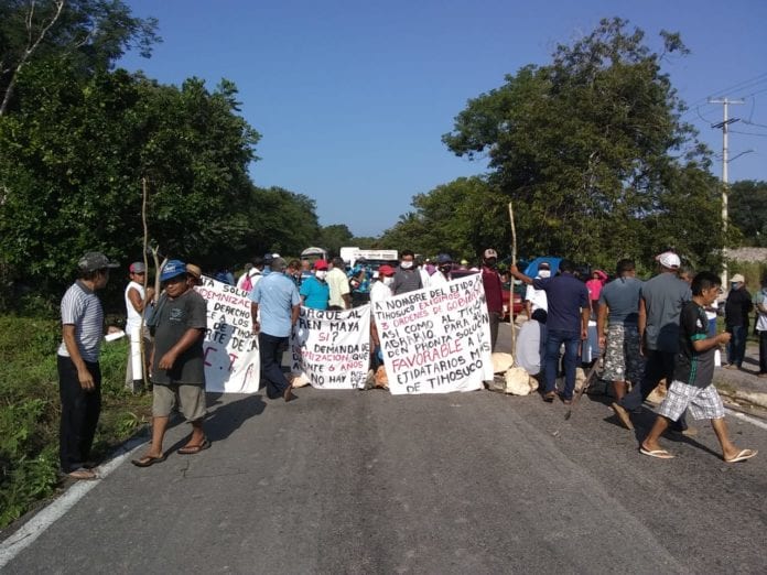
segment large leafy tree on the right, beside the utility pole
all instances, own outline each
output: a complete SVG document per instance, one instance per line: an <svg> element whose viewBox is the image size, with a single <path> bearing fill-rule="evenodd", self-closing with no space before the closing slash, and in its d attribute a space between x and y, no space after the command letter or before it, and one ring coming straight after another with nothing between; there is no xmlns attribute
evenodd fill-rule
<svg viewBox="0 0 767 575"><path fill-rule="evenodd" d="M515 203L521 253L613 265L673 243L696 261L719 261L710 155L680 120L684 106L661 72L663 58L685 48L678 34L661 39L652 52L640 30L603 20L558 46L551 64L526 66L469 100L443 137L457 155L487 156L498 200Z"/></svg>

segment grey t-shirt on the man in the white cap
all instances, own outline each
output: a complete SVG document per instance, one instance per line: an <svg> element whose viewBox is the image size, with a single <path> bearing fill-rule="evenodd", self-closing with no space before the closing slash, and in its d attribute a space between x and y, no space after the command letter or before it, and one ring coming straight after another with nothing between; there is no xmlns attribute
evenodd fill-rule
<svg viewBox="0 0 767 575"><path fill-rule="evenodd" d="M647 310L645 345L648 349L676 354L679 349L679 313L692 300L690 285L673 272L663 272L641 286Z"/></svg>

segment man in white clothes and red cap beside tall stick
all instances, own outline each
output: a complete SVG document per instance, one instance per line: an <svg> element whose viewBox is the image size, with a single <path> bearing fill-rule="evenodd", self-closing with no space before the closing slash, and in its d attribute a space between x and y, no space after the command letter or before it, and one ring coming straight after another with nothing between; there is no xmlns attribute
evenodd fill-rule
<svg viewBox="0 0 767 575"><path fill-rule="evenodd" d="M149 328L141 325L141 315L154 296L154 288L148 286L144 291L147 281L147 267L142 261L134 261L128 268L130 282L126 286L126 335L130 341L128 347L128 366L126 367L126 389L136 393L143 387L143 373L133 375L133 357L141 356L138 366L143 366L144 372L149 368L149 356L152 340L149 336ZM143 340L143 351L141 340ZM141 355L143 352L143 356ZM138 361L138 360L137 360Z"/></svg>

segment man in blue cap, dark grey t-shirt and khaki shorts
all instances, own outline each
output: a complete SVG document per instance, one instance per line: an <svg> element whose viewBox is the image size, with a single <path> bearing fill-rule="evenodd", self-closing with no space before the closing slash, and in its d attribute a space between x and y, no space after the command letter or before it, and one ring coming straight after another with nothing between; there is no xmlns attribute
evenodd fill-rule
<svg viewBox="0 0 767 575"><path fill-rule="evenodd" d="M165 263L160 274L165 291L150 321L154 326L152 445L142 457L132 460L138 467L165 460L162 441L176 393L181 413L192 424L192 435L177 453L193 455L210 446L203 430L206 303L187 280L186 265L179 260Z"/></svg>

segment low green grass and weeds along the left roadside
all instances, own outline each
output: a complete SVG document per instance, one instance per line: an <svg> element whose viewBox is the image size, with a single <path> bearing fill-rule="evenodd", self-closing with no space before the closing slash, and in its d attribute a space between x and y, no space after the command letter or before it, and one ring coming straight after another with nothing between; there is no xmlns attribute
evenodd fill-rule
<svg viewBox="0 0 767 575"><path fill-rule="evenodd" d="M0 316L0 528L58 486L58 322ZM125 389L126 338L101 351L102 408L93 457L101 459L148 421L151 398Z"/></svg>

